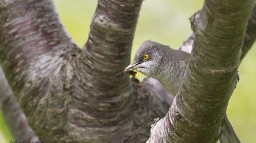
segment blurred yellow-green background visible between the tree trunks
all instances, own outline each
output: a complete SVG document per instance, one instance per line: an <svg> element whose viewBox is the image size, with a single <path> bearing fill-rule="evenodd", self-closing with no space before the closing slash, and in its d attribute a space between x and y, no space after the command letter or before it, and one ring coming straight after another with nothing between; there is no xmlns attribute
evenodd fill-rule
<svg viewBox="0 0 256 143"><path fill-rule="evenodd" d="M60 19L71 38L80 47L87 41L90 21L96 0L54 0ZM147 40L178 48L190 35L188 18L201 9L203 1L146 0L143 2L132 56ZM241 142L256 142L256 47L246 55L239 68L240 82L233 93L227 115ZM143 76L139 76L140 79ZM12 136L0 113L0 142L9 142Z"/></svg>

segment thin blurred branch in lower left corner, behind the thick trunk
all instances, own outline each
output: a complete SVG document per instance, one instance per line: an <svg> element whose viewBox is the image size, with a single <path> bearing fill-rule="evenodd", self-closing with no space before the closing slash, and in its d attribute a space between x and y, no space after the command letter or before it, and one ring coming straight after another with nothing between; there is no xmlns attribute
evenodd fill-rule
<svg viewBox="0 0 256 143"><path fill-rule="evenodd" d="M12 90L5 79L0 66L0 108L5 122L13 135L19 141L39 141L34 131L29 127L26 116L16 102Z"/></svg>

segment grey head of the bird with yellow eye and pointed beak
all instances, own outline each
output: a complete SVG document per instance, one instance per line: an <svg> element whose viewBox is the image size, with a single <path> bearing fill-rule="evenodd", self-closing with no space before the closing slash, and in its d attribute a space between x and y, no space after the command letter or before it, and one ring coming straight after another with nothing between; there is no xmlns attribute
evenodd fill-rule
<svg viewBox="0 0 256 143"><path fill-rule="evenodd" d="M158 42L145 41L135 53L135 57L125 71L137 70L146 76L155 76L158 72L160 62L163 58L163 48L166 45Z"/></svg>

